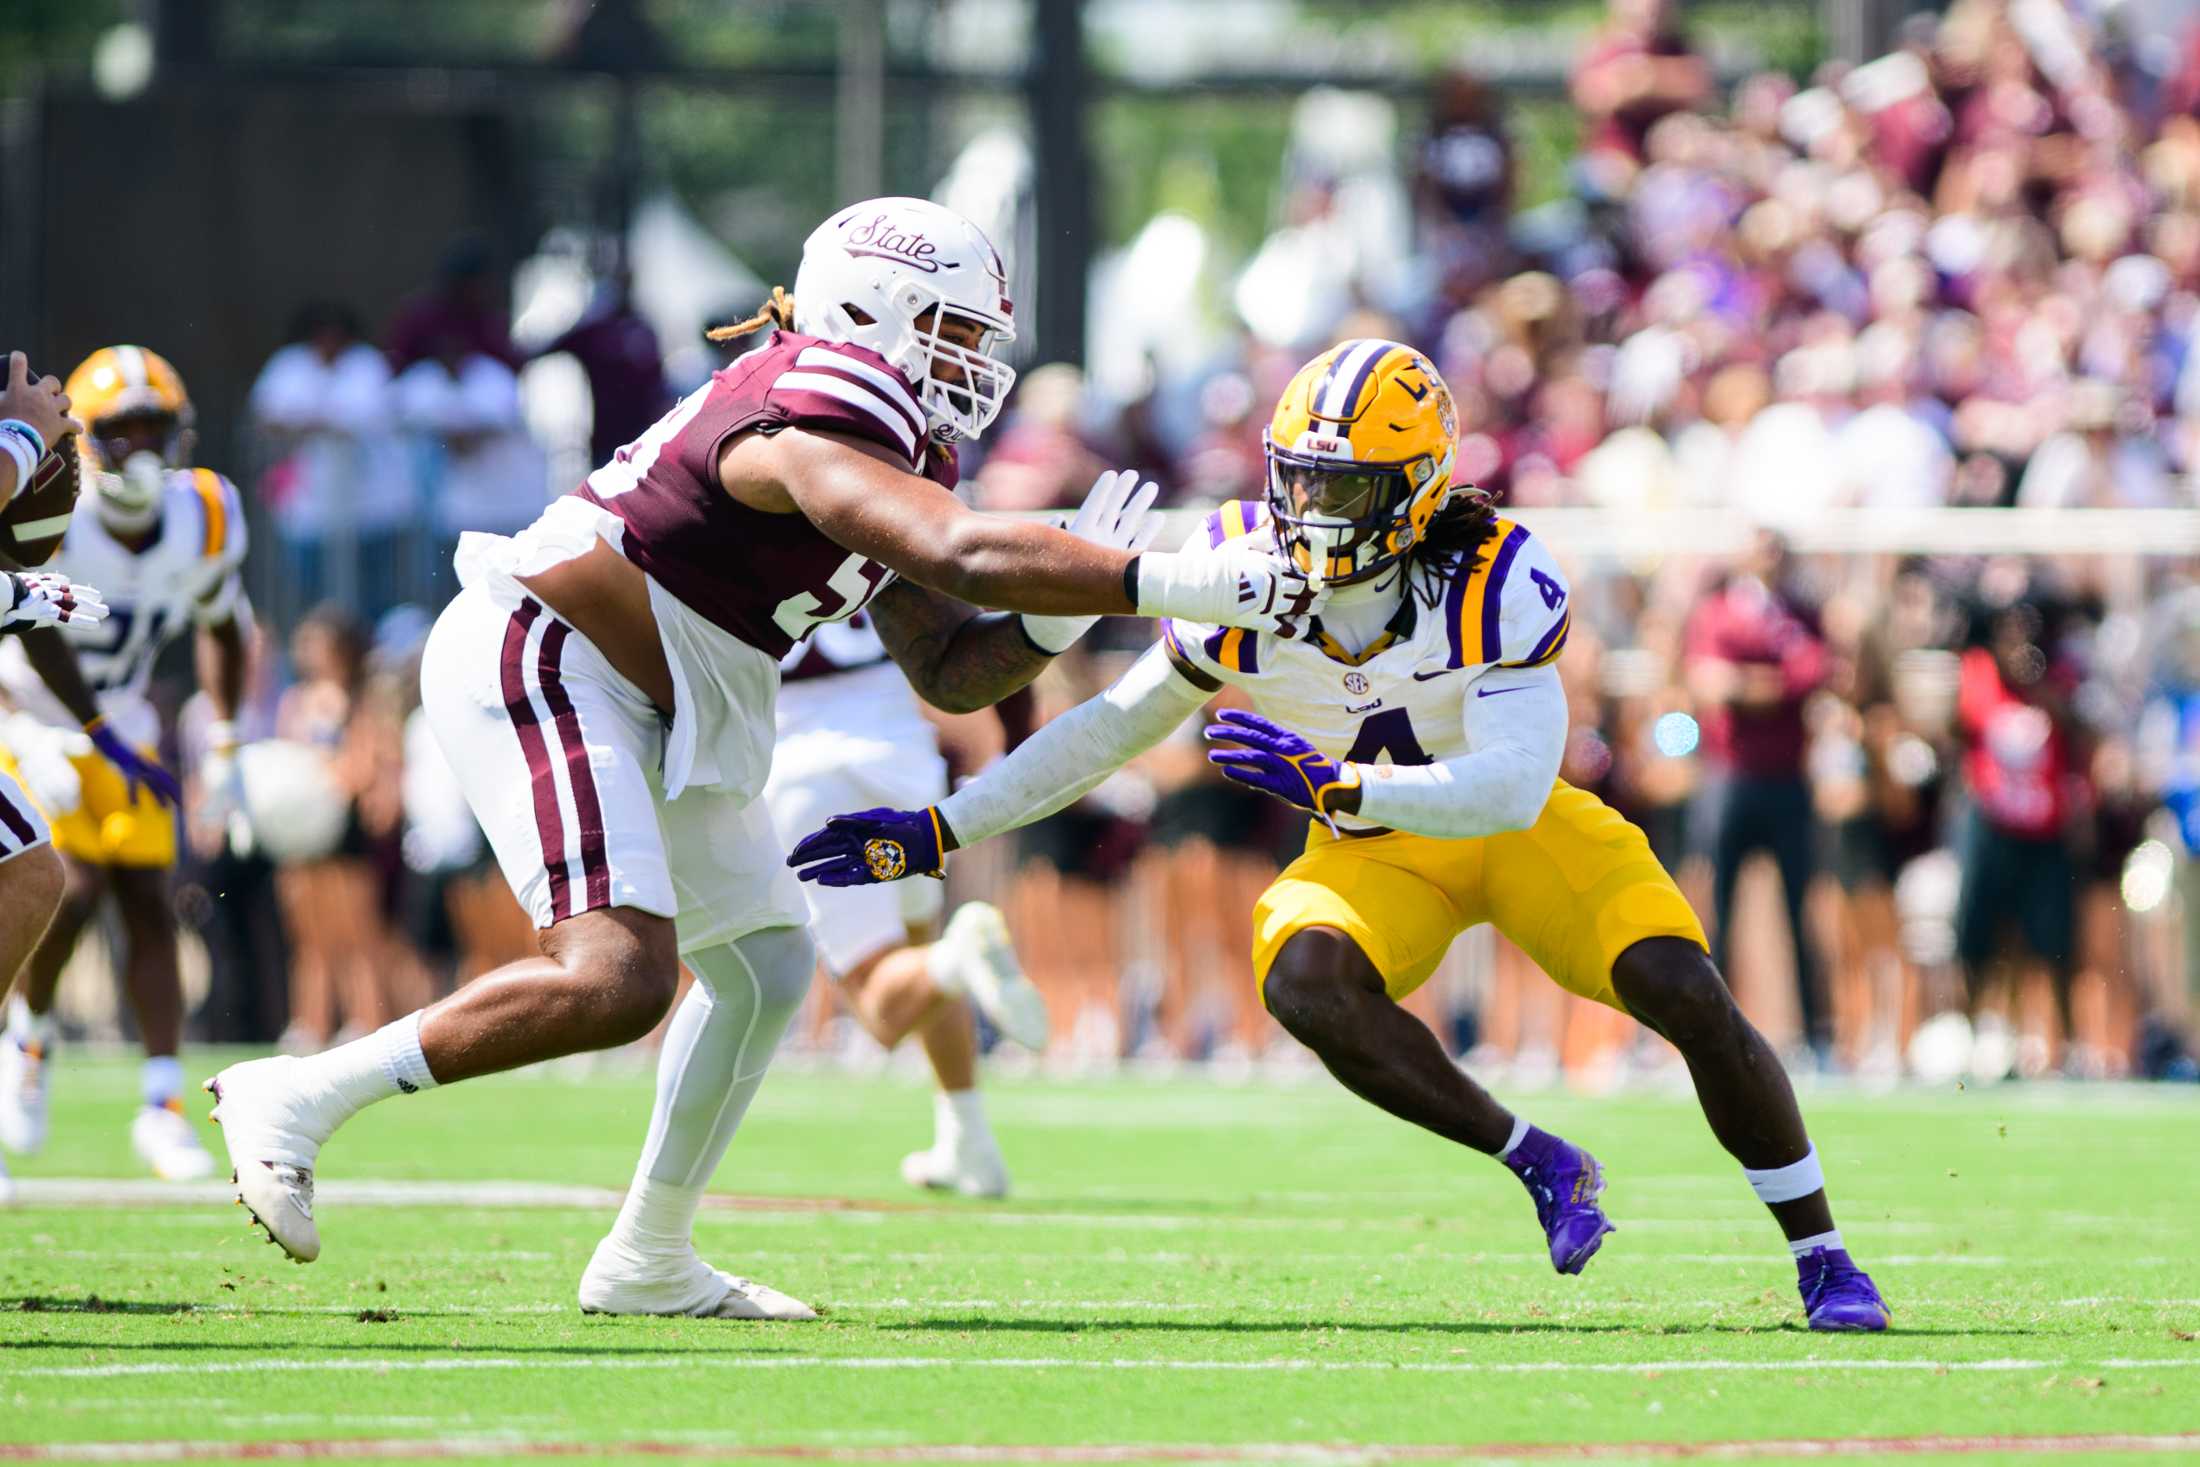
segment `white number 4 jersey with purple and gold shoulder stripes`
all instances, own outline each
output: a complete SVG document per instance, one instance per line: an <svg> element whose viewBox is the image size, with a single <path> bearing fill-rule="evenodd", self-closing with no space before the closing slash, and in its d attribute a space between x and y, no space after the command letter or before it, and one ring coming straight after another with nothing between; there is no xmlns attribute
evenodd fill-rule
<svg viewBox="0 0 2200 1467"><path fill-rule="evenodd" d="M1225 504L1186 550L1234 539L1274 548L1267 506ZM1434 605L1408 594L1360 655L1320 631L1318 620L1313 636L1278 638L1177 618L1162 622L1162 640L1208 677L1245 688L1263 715L1331 759L1434 763L1472 752L1461 699L1503 697L1514 691L1505 671L1547 666L1564 651L1569 600L1551 552L1498 519L1474 565L1450 576ZM1338 825L1371 823L1338 816Z"/></svg>

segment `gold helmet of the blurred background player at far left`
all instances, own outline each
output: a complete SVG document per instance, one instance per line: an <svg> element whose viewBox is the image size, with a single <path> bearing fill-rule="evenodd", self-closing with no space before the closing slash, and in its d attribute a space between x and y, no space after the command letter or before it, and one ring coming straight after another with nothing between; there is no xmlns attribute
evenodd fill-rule
<svg viewBox="0 0 2200 1467"><path fill-rule="evenodd" d="M86 482L99 517L119 530L150 526L169 468L191 453L198 413L158 352L99 348L68 374L70 413L84 422Z"/></svg>

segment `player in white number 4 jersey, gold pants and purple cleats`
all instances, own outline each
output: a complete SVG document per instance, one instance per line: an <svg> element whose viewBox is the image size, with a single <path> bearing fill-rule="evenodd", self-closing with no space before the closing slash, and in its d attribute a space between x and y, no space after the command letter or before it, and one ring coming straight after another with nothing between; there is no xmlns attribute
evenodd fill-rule
<svg viewBox="0 0 2200 1467"><path fill-rule="evenodd" d="M1313 816L1254 913L1261 996L1291 1036L1362 1100L1511 1168L1551 1262L1577 1273L1613 1232L1597 1159L1500 1106L1397 1007L1489 922L1555 983L1681 1051L1789 1238L1811 1328L1885 1328L1786 1076L1694 913L1639 829L1558 781L1569 587L1525 528L1452 490L1454 446L1450 391L1412 348L1346 341L1313 359L1269 422L1267 501L1225 504L1192 537L1274 545L1324 581L1311 636L1168 620L1115 686L939 805L838 816L790 864L825 884L937 871L944 851L1060 809L1239 686L1256 710L1221 713L1208 757Z"/></svg>

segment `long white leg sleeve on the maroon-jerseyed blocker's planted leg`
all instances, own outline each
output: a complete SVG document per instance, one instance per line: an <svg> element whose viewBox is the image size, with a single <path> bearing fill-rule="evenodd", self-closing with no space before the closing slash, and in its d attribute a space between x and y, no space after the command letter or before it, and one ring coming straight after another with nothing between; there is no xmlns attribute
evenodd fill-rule
<svg viewBox="0 0 2200 1467"><path fill-rule="evenodd" d="M801 928L766 928L689 952L686 966L695 983L664 1034L649 1137L612 1225L638 1254L689 1251L704 1185L810 992L816 948Z"/></svg>

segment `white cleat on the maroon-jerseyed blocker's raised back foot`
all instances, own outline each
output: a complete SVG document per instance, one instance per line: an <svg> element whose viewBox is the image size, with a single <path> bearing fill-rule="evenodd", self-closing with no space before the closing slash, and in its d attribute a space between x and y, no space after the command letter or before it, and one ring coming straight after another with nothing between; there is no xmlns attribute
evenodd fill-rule
<svg viewBox="0 0 2200 1467"><path fill-rule="evenodd" d="M330 1102L297 1082L297 1069L299 1060L286 1054L246 1060L207 1080L207 1091L229 1148L238 1201L266 1229L268 1243L299 1262L312 1262L321 1256L321 1229L312 1221L312 1159L337 1124L323 1113Z"/></svg>

